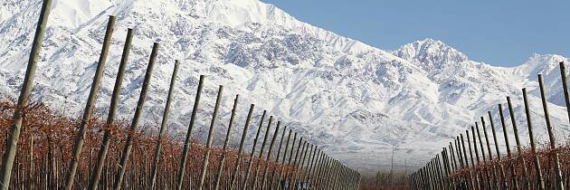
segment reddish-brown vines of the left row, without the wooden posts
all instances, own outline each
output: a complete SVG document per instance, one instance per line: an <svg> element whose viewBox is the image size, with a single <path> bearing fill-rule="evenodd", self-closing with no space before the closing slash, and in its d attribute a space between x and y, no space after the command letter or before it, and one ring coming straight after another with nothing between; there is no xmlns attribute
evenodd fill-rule
<svg viewBox="0 0 570 190"><path fill-rule="evenodd" d="M0 103L0 127L3 138L7 138L9 127L12 126L11 115L14 113L15 106L11 102ZM71 160L70 149L73 147L73 141L77 133L73 126L79 125L79 119L68 119L52 112L41 103L32 103L24 109L23 131L21 133L21 141L19 143L18 154L14 161L14 178L11 186L14 189L62 189L64 179L68 171L68 163ZM75 176L76 189L87 188L89 177L92 176L94 163L97 161L97 153L100 150L103 132L105 130L112 131L112 138L109 144L108 159L104 163L103 172L99 187L101 189L111 189L115 183L115 177L118 173L116 166L119 166L119 157L121 154L120 147L125 146L126 139L129 135L134 137L133 152L131 153L128 170L125 174L125 189L145 189L150 185L150 174L152 166L153 152L148 151L156 148L157 137L143 133L147 128L131 133L124 122L118 122L112 126L105 125L99 120L90 121L90 129L85 138L85 146L79 163L78 173ZM5 140L3 140L5 142ZM2 145L5 147L5 144ZM176 176L178 176L177 167L180 165L180 157L182 153L182 144L173 138L163 138L163 151L160 155L160 162L157 166L157 183L156 189L173 189L176 188ZM225 157L227 160L223 167L220 177L220 189L230 189L230 182L233 174L232 168L235 167L237 159L237 151L227 150L223 152L221 148L212 148L209 169L205 178L204 189L214 189L218 175L216 170L219 168L220 160ZM183 189L194 189L200 180L200 171L202 161L204 159L205 147L193 142L190 146L190 154L185 169L185 181ZM223 154L225 153L225 154ZM242 160L248 160L249 155L242 154ZM244 180L245 168L247 163L241 161L238 181ZM267 172L261 166L267 166ZM317 176L319 170L325 169L324 166L315 166L315 176L300 170L298 167L290 165L282 165L276 161L266 161L253 159L252 167L258 170L258 175L267 173L268 182L275 188L278 178L281 180L285 177L297 178L300 181L309 181L318 183L322 181L324 184L328 178ZM253 169L252 169L253 170ZM251 171L251 175L255 175ZM259 177L259 178L258 178ZM255 179L261 180L261 176L252 177L248 181L248 185L252 185ZM311 178L309 178L311 177ZM261 181L258 182L261 185ZM235 189L242 189L242 183L235 183ZM252 188L251 186L247 189ZM258 185L258 188L259 185Z"/></svg>

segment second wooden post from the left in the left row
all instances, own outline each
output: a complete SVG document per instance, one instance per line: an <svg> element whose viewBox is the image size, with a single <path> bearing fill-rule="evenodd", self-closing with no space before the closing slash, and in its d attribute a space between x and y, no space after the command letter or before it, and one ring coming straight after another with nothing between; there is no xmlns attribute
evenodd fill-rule
<svg viewBox="0 0 570 190"><path fill-rule="evenodd" d="M90 125L91 115L93 113L93 109L95 108L101 79L103 78L103 71L105 71L105 64L107 63L107 55L109 54L110 41L112 39L113 31L115 30L115 21L115 16L109 16L107 31L105 32L105 39L103 40L103 49L101 50L99 62L95 71L95 76L93 77L93 83L91 84L87 104L85 105L85 109L83 111L83 118L81 119L79 131L77 132L77 138L75 139L75 143L73 145L73 155L71 157L69 173L66 173L65 190L71 190L71 187L73 186L75 173L77 172L77 166L79 165L81 158L81 150L83 149L83 143L85 136L87 135L87 128Z"/></svg>

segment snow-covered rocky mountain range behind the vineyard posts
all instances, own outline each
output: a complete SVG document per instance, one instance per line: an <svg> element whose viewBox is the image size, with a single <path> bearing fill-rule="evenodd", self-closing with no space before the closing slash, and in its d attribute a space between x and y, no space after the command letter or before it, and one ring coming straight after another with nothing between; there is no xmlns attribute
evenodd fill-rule
<svg viewBox="0 0 570 190"><path fill-rule="evenodd" d="M5 43L0 44L0 94L16 97L41 1L1 4L0 40ZM177 59L183 64L169 126L185 131L198 77L207 75L200 127L195 131L199 140L205 138L217 85L224 85L217 143L223 140L233 96L240 94L234 140L253 103L256 119L267 109L348 166L389 166L393 147L395 165L421 166L474 119L486 116L487 110L498 112L497 104L506 102L506 96L513 98L518 125L526 136L520 89L527 87L531 94L533 116L542 115L537 73L545 74L557 135L569 134L557 68L558 62L569 61L563 56L535 54L518 67L505 68L470 61L464 53L432 39L384 51L302 23L258 0L56 0L33 100L48 102L66 115L80 114L108 15L117 15L118 22L97 111L107 111L127 28L135 28L120 117L132 118L148 55L157 42L161 46L145 106L146 123L160 120ZM494 118L499 127L497 113ZM538 139L546 140L544 119L534 122Z"/></svg>

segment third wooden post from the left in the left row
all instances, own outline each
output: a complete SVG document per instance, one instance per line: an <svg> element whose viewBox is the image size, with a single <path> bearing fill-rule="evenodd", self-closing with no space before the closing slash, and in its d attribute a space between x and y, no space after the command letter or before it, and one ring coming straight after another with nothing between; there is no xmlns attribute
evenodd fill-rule
<svg viewBox="0 0 570 190"><path fill-rule="evenodd" d="M107 115L107 122L105 123L105 125L108 128L113 124L115 120L115 115L117 113L117 104L119 103L120 87L122 85L123 76L127 68L128 54L130 52L130 44L132 43L133 33L134 30L129 28L127 31L127 39L125 40L125 46L123 47L123 53L119 63L119 71L117 72L115 87L113 88L113 95L111 96L109 115ZM110 129L106 129L99 150L99 158L95 166L95 171L94 171L95 173L90 178L90 185L89 185L90 190L97 189L99 185L101 172L103 171L103 166L105 165L105 159L107 158L107 153L109 152L109 142L111 138L110 136L111 136Z"/></svg>

